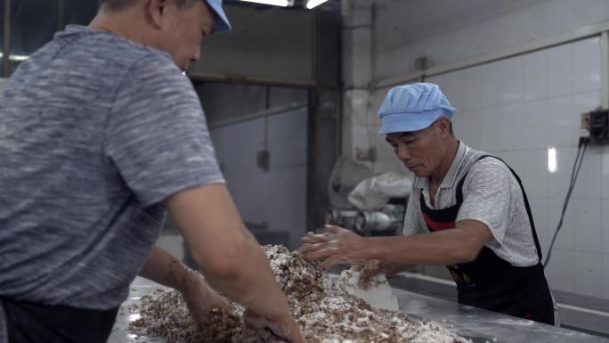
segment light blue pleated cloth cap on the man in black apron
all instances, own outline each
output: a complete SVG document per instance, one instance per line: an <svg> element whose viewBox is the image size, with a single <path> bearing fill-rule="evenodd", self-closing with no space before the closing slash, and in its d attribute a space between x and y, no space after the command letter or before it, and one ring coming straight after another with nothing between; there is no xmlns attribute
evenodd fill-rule
<svg viewBox="0 0 609 343"><path fill-rule="evenodd" d="M437 85L395 86L389 90L378 110L378 118L381 119L378 134L422 130L437 118L452 118L456 111Z"/></svg>

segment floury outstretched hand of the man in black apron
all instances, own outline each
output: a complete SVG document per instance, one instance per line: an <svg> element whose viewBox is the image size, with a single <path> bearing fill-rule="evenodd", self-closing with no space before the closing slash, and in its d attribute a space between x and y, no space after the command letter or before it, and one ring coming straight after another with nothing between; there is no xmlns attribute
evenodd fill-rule
<svg viewBox="0 0 609 343"><path fill-rule="evenodd" d="M339 226L327 225L328 233L308 234L303 237L300 251L307 259L323 259L321 267L354 264L369 259L366 239Z"/></svg>

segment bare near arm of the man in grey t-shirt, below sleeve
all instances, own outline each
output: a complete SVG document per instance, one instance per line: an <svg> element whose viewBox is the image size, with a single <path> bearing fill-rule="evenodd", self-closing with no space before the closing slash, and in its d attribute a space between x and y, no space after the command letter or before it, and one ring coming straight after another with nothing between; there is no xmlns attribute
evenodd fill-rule
<svg viewBox="0 0 609 343"><path fill-rule="evenodd" d="M167 208L215 290L265 317L290 315L264 251L243 225L225 185L179 192L167 200Z"/></svg>

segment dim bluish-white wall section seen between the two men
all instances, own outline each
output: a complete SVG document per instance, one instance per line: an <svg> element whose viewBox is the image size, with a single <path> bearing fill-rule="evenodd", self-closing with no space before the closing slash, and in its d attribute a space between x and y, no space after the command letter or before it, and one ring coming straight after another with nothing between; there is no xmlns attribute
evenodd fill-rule
<svg viewBox="0 0 609 343"><path fill-rule="evenodd" d="M306 109L267 118L268 171L256 166L256 153L264 149L264 118L210 130L243 220L287 230L292 249L306 231L306 118Z"/></svg>

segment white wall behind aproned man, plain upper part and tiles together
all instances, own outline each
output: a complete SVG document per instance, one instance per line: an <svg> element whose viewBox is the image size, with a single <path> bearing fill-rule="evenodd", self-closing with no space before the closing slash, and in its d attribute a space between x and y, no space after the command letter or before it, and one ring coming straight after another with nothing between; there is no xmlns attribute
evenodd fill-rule
<svg viewBox="0 0 609 343"><path fill-rule="evenodd" d="M500 3L464 0L438 7L426 0L377 2L371 75L369 69L346 70L365 78L358 85L349 83L345 92L344 153L373 146L378 151L370 166L375 172L403 170L377 135L377 110L388 89L370 92L364 81L410 75L418 57L427 57L432 66L449 65L609 19L606 0ZM347 47L356 44L346 42ZM567 191L580 115L601 102L600 45L592 37L427 78L458 109L454 125L459 138L497 154L522 176L544 255ZM369 55L360 57L365 64ZM556 173L548 172L549 147L557 151ZM608 208L609 146L590 146L548 265L551 287L609 298Z"/></svg>

